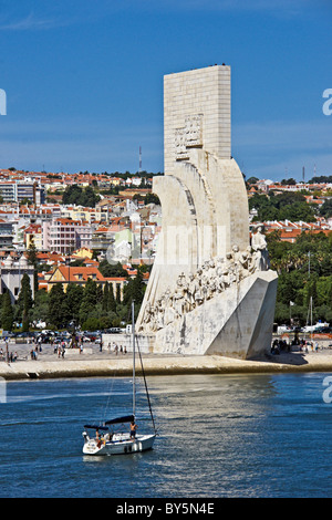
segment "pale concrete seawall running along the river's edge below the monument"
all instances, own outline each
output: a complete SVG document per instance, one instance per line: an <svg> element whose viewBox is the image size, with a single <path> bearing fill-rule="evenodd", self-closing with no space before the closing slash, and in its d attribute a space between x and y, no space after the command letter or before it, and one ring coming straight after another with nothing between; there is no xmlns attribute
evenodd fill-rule
<svg viewBox="0 0 332 520"><path fill-rule="evenodd" d="M142 374L139 360L136 373ZM131 376L132 358L56 358L0 363L0 377L7 381L69 377ZM332 372L332 353L291 353L262 361L242 361L222 356L144 356L146 375L179 374L259 374L292 372Z"/></svg>

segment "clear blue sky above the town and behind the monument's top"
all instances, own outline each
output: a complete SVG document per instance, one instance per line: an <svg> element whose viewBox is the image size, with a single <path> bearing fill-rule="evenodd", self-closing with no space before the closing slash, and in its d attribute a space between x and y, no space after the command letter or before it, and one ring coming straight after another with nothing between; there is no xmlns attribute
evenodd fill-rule
<svg viewBox="0 0 332 520"><path fill-rule="evenodd" d="M332 174L332 2L0 0L0 168L163 171L163 76L226 63L247 178Z"/></svg>

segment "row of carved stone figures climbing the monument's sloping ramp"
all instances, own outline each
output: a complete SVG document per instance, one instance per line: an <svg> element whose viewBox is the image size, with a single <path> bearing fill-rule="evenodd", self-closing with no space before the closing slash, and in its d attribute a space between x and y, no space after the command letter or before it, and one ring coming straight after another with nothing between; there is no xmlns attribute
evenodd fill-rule
<svg viewBox="0 0 332 520"><path fill-rule="evenodd" d="M261 227L258 227L251 246L245 251L234 246L225 259L207 260L188 277L180 273L173 291L168 288L155 306L147 303L139 332L156 332L256 271L267 271L269 268L267 241Z"/></svg>

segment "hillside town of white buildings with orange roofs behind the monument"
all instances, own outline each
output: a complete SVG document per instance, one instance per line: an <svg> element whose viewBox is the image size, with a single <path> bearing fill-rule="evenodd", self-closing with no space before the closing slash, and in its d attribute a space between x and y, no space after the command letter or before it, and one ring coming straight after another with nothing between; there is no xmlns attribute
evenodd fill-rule
<svg viewBox="0 0 332 520"><path fill-rule="evenodd" d="M162 174L0 169L2 298L8 293L15 305L23 275L30 280L32 299L59 284L65 293L70 284L84 288L93 280L102 292L106 285L107 291L111 288L114 299L122 302L125 287L138 271L142 284L146 284L162 229L162 207L152 193L154 175ZM291 243L303 232L328 236L332 230L332 178L326 179L290 179L288 184L251 177L246 181L249 230L261 225L266 235L276 231L281 241ZM291 218L291 211L289 218L281 219L274 204L278 197L290 197L289 207L301 206L301 211L308 208L308 221ZM274 204L274 212L262 212L267 200ZM283 200L282 208L287 204ZM301 211L299 216L307 215Z"/></svg>

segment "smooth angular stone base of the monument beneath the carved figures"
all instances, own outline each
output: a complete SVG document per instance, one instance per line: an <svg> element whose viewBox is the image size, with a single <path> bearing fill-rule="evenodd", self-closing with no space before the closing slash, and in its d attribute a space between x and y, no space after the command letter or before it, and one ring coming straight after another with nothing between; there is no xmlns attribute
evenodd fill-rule
<svg viewBox="0 0 332 520"><path fill-rule="evenodd" d="M270 350L274 271L258 271L185 313L155 335L154 353L249 360Z"/></svg>

